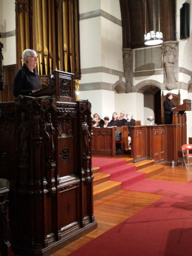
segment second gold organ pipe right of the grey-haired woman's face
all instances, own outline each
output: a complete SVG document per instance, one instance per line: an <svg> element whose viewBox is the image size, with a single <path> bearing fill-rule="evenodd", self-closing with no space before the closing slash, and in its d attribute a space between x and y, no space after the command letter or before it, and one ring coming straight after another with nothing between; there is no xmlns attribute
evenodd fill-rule
<svg viewBox="0 0 192 256"><path fill-rule="evenodd" d="M45 74L48 74L48 10L47 10L47 0L42 0L42 22L43 22L43 62L45 65Z"/></svg>

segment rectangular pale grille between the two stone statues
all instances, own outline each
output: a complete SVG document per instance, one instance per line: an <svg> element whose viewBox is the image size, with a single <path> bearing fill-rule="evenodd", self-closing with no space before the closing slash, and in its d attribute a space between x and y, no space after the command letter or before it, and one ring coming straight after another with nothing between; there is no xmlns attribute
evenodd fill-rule
<svg viewBox="0 0 192 256"><path fill-rule="evenodd" d="M162 69L162 46L135 49L135 72Z"/></svg>

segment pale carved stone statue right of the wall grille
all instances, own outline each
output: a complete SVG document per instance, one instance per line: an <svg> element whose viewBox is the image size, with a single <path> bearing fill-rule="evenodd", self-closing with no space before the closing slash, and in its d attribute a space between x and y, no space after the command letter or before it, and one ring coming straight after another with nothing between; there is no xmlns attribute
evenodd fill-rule
<svg viewBox="0 0 192 256"><path fill-rule="evenodd" d="M178 51L176 45L165 45L164 47L164 84L167 90L172 90L178 82Z"/></svg>

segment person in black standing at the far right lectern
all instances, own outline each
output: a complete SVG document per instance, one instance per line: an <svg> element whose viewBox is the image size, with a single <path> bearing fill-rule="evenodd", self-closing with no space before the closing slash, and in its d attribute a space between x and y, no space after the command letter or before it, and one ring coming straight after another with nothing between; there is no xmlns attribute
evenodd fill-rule
<svg viewBox="0 0 192 256"><path fill-rule="evenodd" d="M169 92L166 95L166 100L163 102L164 107L164 116L165 116L165 124L172 124L173 120L173 109L175 108L174 103L172 103L173 95Z"/></svg>

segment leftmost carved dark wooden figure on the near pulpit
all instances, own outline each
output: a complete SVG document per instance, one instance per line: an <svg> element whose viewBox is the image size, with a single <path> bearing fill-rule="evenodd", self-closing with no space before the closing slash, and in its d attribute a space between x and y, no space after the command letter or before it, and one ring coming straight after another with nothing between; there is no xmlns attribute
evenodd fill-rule
<svg viewBox="0 0 192 256"><path fill-rule="evenodd" d="M29 155L29 129L28 122L25 120L26 114L21 113L21 123L17 128L17 140L18 140L18 152L19 152L19 162L26 163Z"/></svg>

